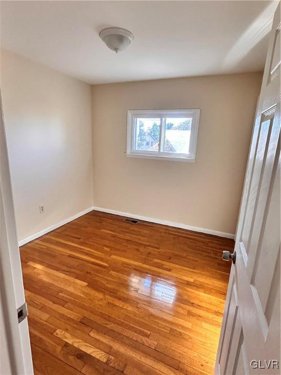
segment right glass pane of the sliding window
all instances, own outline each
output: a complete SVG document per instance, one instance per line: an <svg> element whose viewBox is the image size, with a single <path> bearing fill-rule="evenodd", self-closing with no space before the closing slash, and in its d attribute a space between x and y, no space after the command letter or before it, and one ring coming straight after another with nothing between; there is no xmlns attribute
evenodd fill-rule
<svg viewBox="0 0 281 375"><path fill-rule="evenodd" d="M166 118L164 152L189 153L192 118Z"/></svg>

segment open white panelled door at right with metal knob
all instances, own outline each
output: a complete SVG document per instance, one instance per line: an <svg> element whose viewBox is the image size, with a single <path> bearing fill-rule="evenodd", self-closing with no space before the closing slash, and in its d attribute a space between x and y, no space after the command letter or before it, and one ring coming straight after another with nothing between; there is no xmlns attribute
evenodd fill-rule
<svg viewBox="0 0 281 375"><path fill-rule="evenodd" d="M231 268L221 327L215 368L221 375L280 374L280 28L279 3L252 135L236 262Z"/></svg>

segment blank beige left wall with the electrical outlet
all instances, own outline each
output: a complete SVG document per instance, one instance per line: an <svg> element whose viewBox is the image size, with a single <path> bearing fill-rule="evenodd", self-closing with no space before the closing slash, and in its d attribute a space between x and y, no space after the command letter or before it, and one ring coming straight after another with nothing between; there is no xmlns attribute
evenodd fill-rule
<svg viewBox="0 0 281 375"><path fill-rule="evenodd" d="M91 86L8 51L0 58L22 240L93 206Z"/></svg>

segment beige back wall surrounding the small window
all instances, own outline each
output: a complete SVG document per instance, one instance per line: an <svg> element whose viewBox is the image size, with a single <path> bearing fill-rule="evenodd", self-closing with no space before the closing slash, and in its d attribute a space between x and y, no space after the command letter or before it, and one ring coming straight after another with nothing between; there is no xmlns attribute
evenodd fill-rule
<svg viewBox="0 0 281 375"><path fill-rule="evenodd" d="M261 73L92 87L94 205L235 233ZM126 158L128 109L200 108L195 163Z"/></svg>

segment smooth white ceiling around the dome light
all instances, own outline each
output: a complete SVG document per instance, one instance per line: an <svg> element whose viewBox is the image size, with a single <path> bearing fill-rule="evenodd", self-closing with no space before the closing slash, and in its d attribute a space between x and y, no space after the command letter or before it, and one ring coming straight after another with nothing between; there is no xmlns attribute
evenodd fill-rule
<svg viewBox="0 0 281 375"><path fill-rule="evenodd" d="M261 71L277 1L1 1L1 47L88 83ZM135 40L115 54L104 27Z"/></svg>

